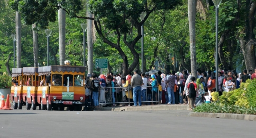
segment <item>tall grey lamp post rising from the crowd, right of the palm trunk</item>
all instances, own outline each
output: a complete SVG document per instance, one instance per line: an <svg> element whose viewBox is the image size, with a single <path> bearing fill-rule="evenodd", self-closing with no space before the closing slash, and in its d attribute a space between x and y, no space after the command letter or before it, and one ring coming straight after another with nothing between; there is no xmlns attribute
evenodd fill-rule
<svg viewBox="0 0 256 138"><path fill-rule="evenodd" d="M217 89L217 92L219 92L219 80L218 80L218 71L219 71L219 67L218 67L218 57L219 57L219 53L218 53L218 32L219 32L219 5L221 3L222 0L212 0L214 5L215 5L215 10L216 10L216 43L215 43L215 50L216 50L216 56L215 56L215 68L216 68L216 73L215 73L215 77L216 77L216 84L215 84L215 88Z"/></svg>

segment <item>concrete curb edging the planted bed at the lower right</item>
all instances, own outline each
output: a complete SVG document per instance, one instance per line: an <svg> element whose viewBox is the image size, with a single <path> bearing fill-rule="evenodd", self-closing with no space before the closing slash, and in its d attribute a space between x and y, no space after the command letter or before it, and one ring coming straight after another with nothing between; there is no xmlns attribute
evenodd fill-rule
<svg viewBox="0 0 256 138"><path fill-rule="evenodd" d="M224 113L222 114L222 113L190 112L188 116L256 121L256 115L252 115L252 114L224 114Z"/></svg>

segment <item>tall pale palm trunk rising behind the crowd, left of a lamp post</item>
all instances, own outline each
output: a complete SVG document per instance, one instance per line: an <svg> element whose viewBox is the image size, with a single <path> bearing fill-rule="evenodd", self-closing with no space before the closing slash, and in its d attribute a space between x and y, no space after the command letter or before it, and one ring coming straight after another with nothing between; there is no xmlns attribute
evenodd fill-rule
<svg viewBox="0 0 256 138"><path fill-rule="evenodd" d="M188 0L188 17L189 17L189 37L190 37L190 58L191 73L197 78L196 72L196 33L195 33L195 17L196 17L196 0Z"/></svg>

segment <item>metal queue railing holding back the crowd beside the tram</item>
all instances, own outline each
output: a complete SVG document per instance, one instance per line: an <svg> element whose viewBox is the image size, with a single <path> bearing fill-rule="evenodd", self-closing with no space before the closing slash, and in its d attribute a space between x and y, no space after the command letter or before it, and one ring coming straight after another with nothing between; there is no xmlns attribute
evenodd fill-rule
<svg viewBox="0 0 256 138"><path fill-rule="evenodd" d="M146 89L147 88L149 88L149 87L151 87L152 88L152 86L144 86L144 87L146 87ZM153 93L153 91L151 91L151 94L152 94L152 100L151 101L148 101L147 100L147 90L146 90L146 101L143 101L143 99L141 99L141 103L154 103L154 102L158 102L158 105L160 105L160 96L159 96L159 89L158 89L158 86L155 86L156 88L157 88L157 97L155 97L155 99L157 99L158 98L158 100L153 100L154 98L153 98L153 96L154 96L154 93ZM124 96L126 96L126 95L122 95L122 102L117 102L117 101L119 101L119 100L115 100L115 102L113 102L113 99L112 99L112 94L113 94L113 92L112 92L112 89L115 89L115 92L114 92L114 94L116 95L116 97L118 97L118 93L116 92L116 90L117 89L125 89L125 88L127 88L128 89L128 101L124 101ZM105 103L102 103L102 102L100 102L100 95L101 95L101 92L99 92L99 95L98 95L98 100L99 100L99 106L101 107L102 105L108 105L108 104L128 104L128 106L130 106L130 103L134 103L134 102L131 102L130 101L130 98L129 98L129 95L130 95L130 89L133 89L133 87L105 87L105 88L100 88L100 89L108 89L108 92L106 93L105 92ZM120 92L122 92L122 90L120 91ZM107 99L106 99L106 95L110 95L110 102L107 102ZM133 91L132 91L132 95L133 95ZM91 92L91 97L92 97L92 92ZM142 98L142 96L140 96L140 97L138 97L137 96L137 98ZM93 103L93 99L91 99L91 103ZM137 101L137 103L138 103L138 101ZM138 104L137 104L138 105ZM95 106L95 105L94 105Z"/></svg>

